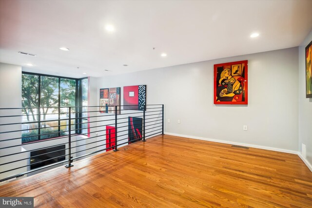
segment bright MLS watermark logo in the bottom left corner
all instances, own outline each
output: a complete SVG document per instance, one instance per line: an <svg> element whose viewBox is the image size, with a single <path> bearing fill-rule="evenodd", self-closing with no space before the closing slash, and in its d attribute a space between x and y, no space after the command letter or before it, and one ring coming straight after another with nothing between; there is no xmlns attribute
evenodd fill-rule
<svg viewBox="0 0 312 208"><path fill-rule="evenodd" d="M1 208L34 208L34 197L0 197Z"/></svg>

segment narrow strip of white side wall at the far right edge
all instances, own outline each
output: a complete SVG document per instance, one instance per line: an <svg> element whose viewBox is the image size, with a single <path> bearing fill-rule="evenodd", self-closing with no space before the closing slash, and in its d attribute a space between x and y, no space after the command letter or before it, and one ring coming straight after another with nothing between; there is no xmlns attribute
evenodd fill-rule
<svg viewBox="0 0 312 208"><path fill-rule="evenodd" d="M305 47L312 41L312 31L299 46L299 151L306 146L306 159L312 164L312 98L306 98ZM304 157L304 155L302 155ZM312 167L310 165L310 167Z"/></svg>

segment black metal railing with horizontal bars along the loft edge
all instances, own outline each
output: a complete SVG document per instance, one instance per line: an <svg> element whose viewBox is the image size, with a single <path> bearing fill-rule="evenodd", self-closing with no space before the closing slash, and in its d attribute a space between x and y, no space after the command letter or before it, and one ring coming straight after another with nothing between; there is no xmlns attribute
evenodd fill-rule
<svg viewBox="0 0 312 208"><path fill-rule="evenodd" d="M0 108L0 182L65 164L69 168L84 157L164 132L163 104L146 105L143 111L114 106L111 113L100 106L48 108L45 114L40 108Z"/></svg>

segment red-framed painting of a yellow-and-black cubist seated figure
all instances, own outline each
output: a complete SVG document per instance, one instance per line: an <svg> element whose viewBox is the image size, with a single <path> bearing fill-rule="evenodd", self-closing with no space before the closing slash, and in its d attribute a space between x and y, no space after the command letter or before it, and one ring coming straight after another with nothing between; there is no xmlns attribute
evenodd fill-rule
<svg viewBox="0 0 312 208"><path fill-rule="evenodd" d="M248 60L214 65L214 104L248 104Z"/></svg>

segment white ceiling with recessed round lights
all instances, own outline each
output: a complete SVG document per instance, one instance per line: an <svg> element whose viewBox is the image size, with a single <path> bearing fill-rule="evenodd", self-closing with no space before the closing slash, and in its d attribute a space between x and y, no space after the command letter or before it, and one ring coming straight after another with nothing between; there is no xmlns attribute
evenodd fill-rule
<svg viewBox="0 0 312 208"><path fill-rule="evenodd" d="M311 29L312 0L0 0L0 62L108 76L295 47Z"/></svg>

